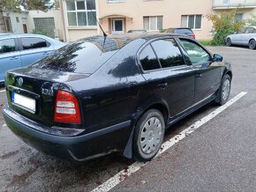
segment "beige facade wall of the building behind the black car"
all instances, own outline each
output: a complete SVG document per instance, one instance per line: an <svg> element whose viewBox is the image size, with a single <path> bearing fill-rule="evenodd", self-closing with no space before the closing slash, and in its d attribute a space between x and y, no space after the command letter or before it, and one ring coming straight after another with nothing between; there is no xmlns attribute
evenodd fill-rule
<svg viewBox="0 0 256 192"><path fill-rule="evenodd" d="M66 41L101 33L99 27L69 27L67 25L66 4L61 1L63 9ZM108 15L126 16L124 32L130 29L143 29L143 16L163 16L163 28L181 26L181 15L203 15L201 29L194 30L197 39L211 39L211 23L207 14L212 12L212 0L126 0L124 3L108 4L106 0L96 0L97 18ZM110 18L100 19L103 29L111 33Z"/></svg>

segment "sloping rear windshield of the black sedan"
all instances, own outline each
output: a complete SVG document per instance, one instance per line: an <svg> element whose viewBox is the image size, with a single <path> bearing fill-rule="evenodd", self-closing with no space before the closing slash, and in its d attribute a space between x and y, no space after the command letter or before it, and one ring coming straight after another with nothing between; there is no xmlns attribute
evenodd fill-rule
<svg viewBox="0 0 256 192"><path fill-rule="evenodd" d="M87 38L64 46L32 67L92 74L118 50L117 42L102 37Z"/></svg>

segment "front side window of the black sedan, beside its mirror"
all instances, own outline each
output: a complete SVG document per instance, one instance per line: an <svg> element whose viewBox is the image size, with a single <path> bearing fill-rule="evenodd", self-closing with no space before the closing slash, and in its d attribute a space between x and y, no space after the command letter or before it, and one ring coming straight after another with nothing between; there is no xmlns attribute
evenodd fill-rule
<svg viewBox="0 0 256 192"><path fill-rule="evenodd" d="M210 55L199 45L187 40L181 40L181 42L187 54L189 55L192 64L209 62L211 58Z"/></svg>

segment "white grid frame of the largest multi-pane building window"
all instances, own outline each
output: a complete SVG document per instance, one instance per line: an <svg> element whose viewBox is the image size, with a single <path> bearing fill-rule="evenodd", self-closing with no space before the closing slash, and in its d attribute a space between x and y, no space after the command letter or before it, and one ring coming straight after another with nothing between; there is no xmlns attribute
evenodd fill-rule
<svg viewBox="0 0 256 192"><path fill-rule="evenodd" d="M84 2L86 9L85 10L78 10L77 2ZM91 10L87 9L87 0L75 0L74 4L75 4L75 10L74 11L68 11L67 10L67 5L66 5L66 9L65 10L66 10L66 17L67 17L67 25L68 25L68 27L85 27L85 26L79 26L78 12L86 12L87 13L87 26L86 27L97 27L97 22L96 22L95 26L89 26L89 23L88 23L88 12L91 12ZM96 4L96 0L95 0L95 4ZM95 9L96 9L96 7L95 7ZM92 10L92 11L94 11L95 16L96 16L97 15L97 11L96 10ZM76 23L77 23L76 26L70 26L69 25L69 22L68 22L68 12L75 12L76 13Z"/></svg>

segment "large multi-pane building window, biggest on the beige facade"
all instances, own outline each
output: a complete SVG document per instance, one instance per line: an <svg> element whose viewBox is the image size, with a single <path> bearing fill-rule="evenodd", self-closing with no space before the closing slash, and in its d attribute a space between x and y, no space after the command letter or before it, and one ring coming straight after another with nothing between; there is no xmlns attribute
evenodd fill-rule
<svg viewBox="0 0 256 192"><path fill-rule="evenodd" d="M97 26L95 0L66 2L69 26Z"/></svg>

